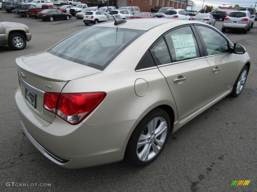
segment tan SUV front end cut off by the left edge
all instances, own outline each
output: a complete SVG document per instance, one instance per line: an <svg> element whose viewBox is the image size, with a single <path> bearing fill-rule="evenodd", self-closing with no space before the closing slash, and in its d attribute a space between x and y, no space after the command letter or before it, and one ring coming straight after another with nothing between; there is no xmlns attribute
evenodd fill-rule
<svg viewBox="0 0 257 192"><path fill-rule="evenodd" d="M11 49L21 50L26 41L31 40L29 27L22 23L0 22L0 46L9 45Z"/></svg>

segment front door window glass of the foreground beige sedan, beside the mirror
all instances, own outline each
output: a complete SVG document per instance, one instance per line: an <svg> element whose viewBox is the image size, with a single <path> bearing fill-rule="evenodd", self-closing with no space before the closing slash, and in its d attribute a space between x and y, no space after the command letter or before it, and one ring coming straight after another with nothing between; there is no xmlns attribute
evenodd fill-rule
<svg viewBox="0 0 257 192"><path fill-rule="evenodd" d="M208 55L215 55L229 51L227 40L217 31L204 26L197 26L204 39Z"/></svg>

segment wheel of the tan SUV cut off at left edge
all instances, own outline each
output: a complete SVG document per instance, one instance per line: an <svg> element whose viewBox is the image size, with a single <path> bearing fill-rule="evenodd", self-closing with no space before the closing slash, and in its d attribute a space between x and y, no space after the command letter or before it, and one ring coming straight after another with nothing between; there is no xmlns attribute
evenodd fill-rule
<svg viewBox="0 0 257 192"><path fill-rule="evenodd" d="M26 47L26 39L20 33L13 33L9 36L8 45L14 50L22 50Z"/></svg>

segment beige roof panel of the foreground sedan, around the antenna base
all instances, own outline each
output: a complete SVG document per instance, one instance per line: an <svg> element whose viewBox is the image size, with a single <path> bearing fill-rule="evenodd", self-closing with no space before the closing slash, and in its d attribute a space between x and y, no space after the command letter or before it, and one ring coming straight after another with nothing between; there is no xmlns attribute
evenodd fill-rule
<svg viewBox="0 0 257 192"><path fill-rule="evenodd" d="M174 27L181 25L181 24L192 24L192 23L200 23L200 22L193 22L187 20L179 20L179 19L128 19L125 23L120 25L114 25L113 21L104 22L98 25L92 25L90 27L117 27L117 28L124 28L124 29L135 29L135 30L144 30L148 31L152 28L158 27L160 25L170 23L173 24ZM201 23L202 24L202 23Z"/></svg>

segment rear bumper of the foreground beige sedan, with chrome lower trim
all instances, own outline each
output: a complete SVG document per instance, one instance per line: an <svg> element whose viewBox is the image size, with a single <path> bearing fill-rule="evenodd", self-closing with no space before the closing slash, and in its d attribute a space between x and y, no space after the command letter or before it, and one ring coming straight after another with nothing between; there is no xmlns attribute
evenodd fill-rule
<svg viewBox="0 0 257 192"><path fill-rule="evenodd" d="M22 127L33 145L52 162L65 168L82 168L121 161L135 120L88 127L70 125L56 117L52 123L33 113L21 89L15 103Z"/></svg>

